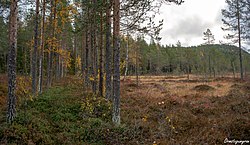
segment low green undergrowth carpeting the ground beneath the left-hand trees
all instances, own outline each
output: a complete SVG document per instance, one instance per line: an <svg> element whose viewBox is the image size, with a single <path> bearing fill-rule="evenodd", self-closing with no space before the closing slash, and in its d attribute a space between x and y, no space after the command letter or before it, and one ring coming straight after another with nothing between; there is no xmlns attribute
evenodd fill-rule
<svg viewBox="0 0 250 145"><path fill-rule="evenodd" d="M55 87L22 102L15 121L3 120L1 144L107 144L122 142L124 125L111 123L110 103L93 94L76 93L76 88ZM74 93L75 92L75 93ZM5 113L2 113L3 117ZM110 133L112 132L112 133ZM119 134L119 135L118 135Z"/></svg>

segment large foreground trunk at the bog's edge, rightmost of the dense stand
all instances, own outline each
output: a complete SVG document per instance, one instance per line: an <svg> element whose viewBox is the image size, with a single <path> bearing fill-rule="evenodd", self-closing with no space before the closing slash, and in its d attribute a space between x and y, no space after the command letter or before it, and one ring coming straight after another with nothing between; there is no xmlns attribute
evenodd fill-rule
<svg viewBox="0 0 250 145"><path fill-rule="evenodd" d="M115 27L115 46L114 46L114 98L112 121L120 124L120 0L114 0L114 27Z"/></svg>

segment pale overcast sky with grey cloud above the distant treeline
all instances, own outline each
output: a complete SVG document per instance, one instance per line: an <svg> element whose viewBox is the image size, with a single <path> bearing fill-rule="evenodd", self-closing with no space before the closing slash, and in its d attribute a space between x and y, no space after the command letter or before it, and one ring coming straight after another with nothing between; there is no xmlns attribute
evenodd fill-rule
<svg viewBox="0 0 250 145"><path fill-rule="evenodd" d="M180 6L163 5L159 16L164 19L161 44L176 44L179 40L183 46L200 45L208 28L215 35L215 43L219 43L225 35L221 30L223 8L225 0L185 0Z"/></svg>

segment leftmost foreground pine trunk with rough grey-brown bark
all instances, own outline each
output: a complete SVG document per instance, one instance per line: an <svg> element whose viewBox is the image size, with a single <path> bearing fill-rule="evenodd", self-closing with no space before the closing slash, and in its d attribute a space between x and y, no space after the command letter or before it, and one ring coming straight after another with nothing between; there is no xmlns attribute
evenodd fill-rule
<svg viewBox="0 0 250 145"><path fill-rule="evenodd" d="M16 53L17 53L17 7L18 0L11 0L10 5L10 48L8 54L8 111L7 122L12 123L16 116Z"/></svg>

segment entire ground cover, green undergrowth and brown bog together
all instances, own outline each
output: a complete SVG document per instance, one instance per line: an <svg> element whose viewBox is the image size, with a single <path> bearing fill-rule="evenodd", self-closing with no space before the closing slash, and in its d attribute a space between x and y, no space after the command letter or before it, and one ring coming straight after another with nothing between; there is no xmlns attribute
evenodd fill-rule
<svg viewBox="0 0 250 145"><path fill-rule="evenodd" d="M137 86L135 77L127 77L121 81L120 126L111 122L111 103L81 91L81 86L77 78L69 77L36 98L19 98L16 121L7 125L6 76L0 75L0 144L175 145L250 140L249 81L141 76Z"/></svg>

